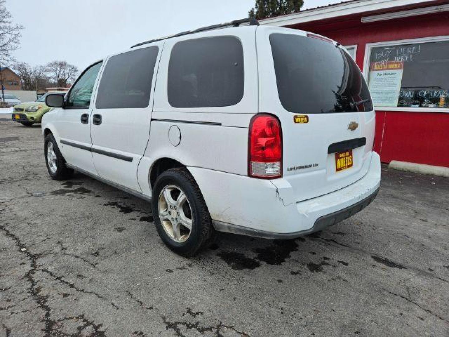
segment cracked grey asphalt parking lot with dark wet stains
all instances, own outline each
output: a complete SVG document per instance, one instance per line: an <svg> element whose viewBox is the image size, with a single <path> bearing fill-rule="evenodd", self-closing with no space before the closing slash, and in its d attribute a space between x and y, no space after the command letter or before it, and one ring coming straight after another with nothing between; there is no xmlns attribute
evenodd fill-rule
<svg viewBox="0 0 449 337"><path fill-rule="evenodd" d="M0 336L449 336L448 178L383 167L326 231L187 259L145 201L51 180L40 131L0 118Z"/></svg>

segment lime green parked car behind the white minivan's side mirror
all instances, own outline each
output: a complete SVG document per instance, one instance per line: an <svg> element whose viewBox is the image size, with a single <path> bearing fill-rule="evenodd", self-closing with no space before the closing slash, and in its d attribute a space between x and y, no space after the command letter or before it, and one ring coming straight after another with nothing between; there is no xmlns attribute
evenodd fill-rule
<svg viewBox="0 0 449 337"><path fill-rule="evenodd" d="M64 95L65 92L52 92ZM25 126L40 123L42 116L51 108L45 104L45 98L49 93L44 94L35 102L26 102L14 106L12 119Z"/></svg>

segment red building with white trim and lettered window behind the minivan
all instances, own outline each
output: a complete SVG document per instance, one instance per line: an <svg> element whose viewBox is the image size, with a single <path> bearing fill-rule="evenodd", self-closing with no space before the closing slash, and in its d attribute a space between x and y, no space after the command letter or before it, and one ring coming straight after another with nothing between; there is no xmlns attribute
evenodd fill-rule
<svg viewBox="0 0 449 337"><path fill-rule="evenodd" d="M449 1L353 0L260 23L347 47L370 86L384 163L449 167Z"/></svg>

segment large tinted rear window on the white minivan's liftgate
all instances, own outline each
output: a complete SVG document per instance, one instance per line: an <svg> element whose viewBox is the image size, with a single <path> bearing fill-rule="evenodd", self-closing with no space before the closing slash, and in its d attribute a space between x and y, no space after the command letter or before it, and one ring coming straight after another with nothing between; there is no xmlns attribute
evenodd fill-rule
<svg viewBox="0 0 449 337"><path fill-rule="evenodd" d="M271 34L277 91L293 113L371 111L361 71L342 48L316 38Z"/></svg>

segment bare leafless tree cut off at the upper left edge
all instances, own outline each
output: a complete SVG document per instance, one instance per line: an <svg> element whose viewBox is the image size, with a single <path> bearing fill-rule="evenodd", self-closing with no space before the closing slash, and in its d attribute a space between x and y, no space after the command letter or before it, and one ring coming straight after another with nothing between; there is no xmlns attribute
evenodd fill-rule
<svg viewBox="0 0 449 337"><path fill-rule="evenodd" d="M6 10L5 0L0 0L0 62L13 61L12 52L19 48L22 26L14 24Z"/></svg>

